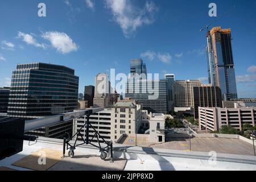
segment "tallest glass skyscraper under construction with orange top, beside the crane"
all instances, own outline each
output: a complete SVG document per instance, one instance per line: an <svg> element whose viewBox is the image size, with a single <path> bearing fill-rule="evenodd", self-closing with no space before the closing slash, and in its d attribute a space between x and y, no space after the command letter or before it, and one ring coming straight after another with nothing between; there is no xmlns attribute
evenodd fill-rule
<svg viewBox="0 0 256 182"><path fill-rule="evenodd" d="M230 28L214 27L207 33L209 83L220 87L224 101L237 98L231 40Z"/></svg>

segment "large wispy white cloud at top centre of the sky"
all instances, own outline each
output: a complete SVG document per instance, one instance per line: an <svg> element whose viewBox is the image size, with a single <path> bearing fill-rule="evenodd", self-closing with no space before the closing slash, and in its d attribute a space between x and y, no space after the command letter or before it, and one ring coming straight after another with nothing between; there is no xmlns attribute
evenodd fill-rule
<svg viewBox="0 0 256 182"><path fill-rule="evenodd" d="M113 19L122 28L123 34L129 37L138 27L154 22L154 14L158 7L153 2L146 2L141 9L130 0L105 0L106 7L112 10Z"/></svg>

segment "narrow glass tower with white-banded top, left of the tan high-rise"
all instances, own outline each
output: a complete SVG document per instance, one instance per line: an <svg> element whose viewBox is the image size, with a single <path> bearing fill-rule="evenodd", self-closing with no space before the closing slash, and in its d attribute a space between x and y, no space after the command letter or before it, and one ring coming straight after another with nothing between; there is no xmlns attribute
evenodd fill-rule
<svg viewBox="0 0 256 182"><path fill-rule="evenodd" d="M168 108L169 111L174 111L174 81L175 81L175 75L174 74L166 74L164 75L164 78L168 81Z"/></svg>

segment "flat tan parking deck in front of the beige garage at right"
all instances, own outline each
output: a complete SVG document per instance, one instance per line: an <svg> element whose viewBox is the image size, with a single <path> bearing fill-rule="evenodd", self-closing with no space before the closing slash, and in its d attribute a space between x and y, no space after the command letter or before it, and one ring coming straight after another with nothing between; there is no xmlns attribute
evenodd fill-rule
<svg viewBox="0 0 256 182"><path fill-rule="evenodd" d="M150 147L189 151L189 138L168 138L168 140L171 141L154 144ZM254 155L252 144L232 138L191 138L191 150L200 152L216 151L222 154Z"/></svg>

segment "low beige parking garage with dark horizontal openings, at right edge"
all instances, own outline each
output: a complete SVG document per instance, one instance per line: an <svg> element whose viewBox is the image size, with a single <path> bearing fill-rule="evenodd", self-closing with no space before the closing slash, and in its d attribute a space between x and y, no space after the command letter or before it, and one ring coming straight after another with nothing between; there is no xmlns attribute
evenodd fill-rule
<svg viewBox="0 0 256 182"><path fill-rule="evenodd" d="M199 129L219 131L221 126L230 125L242 131L242 126L249 123L255 126L256 107L251 108L220 108L199 107Z"/></svg>

